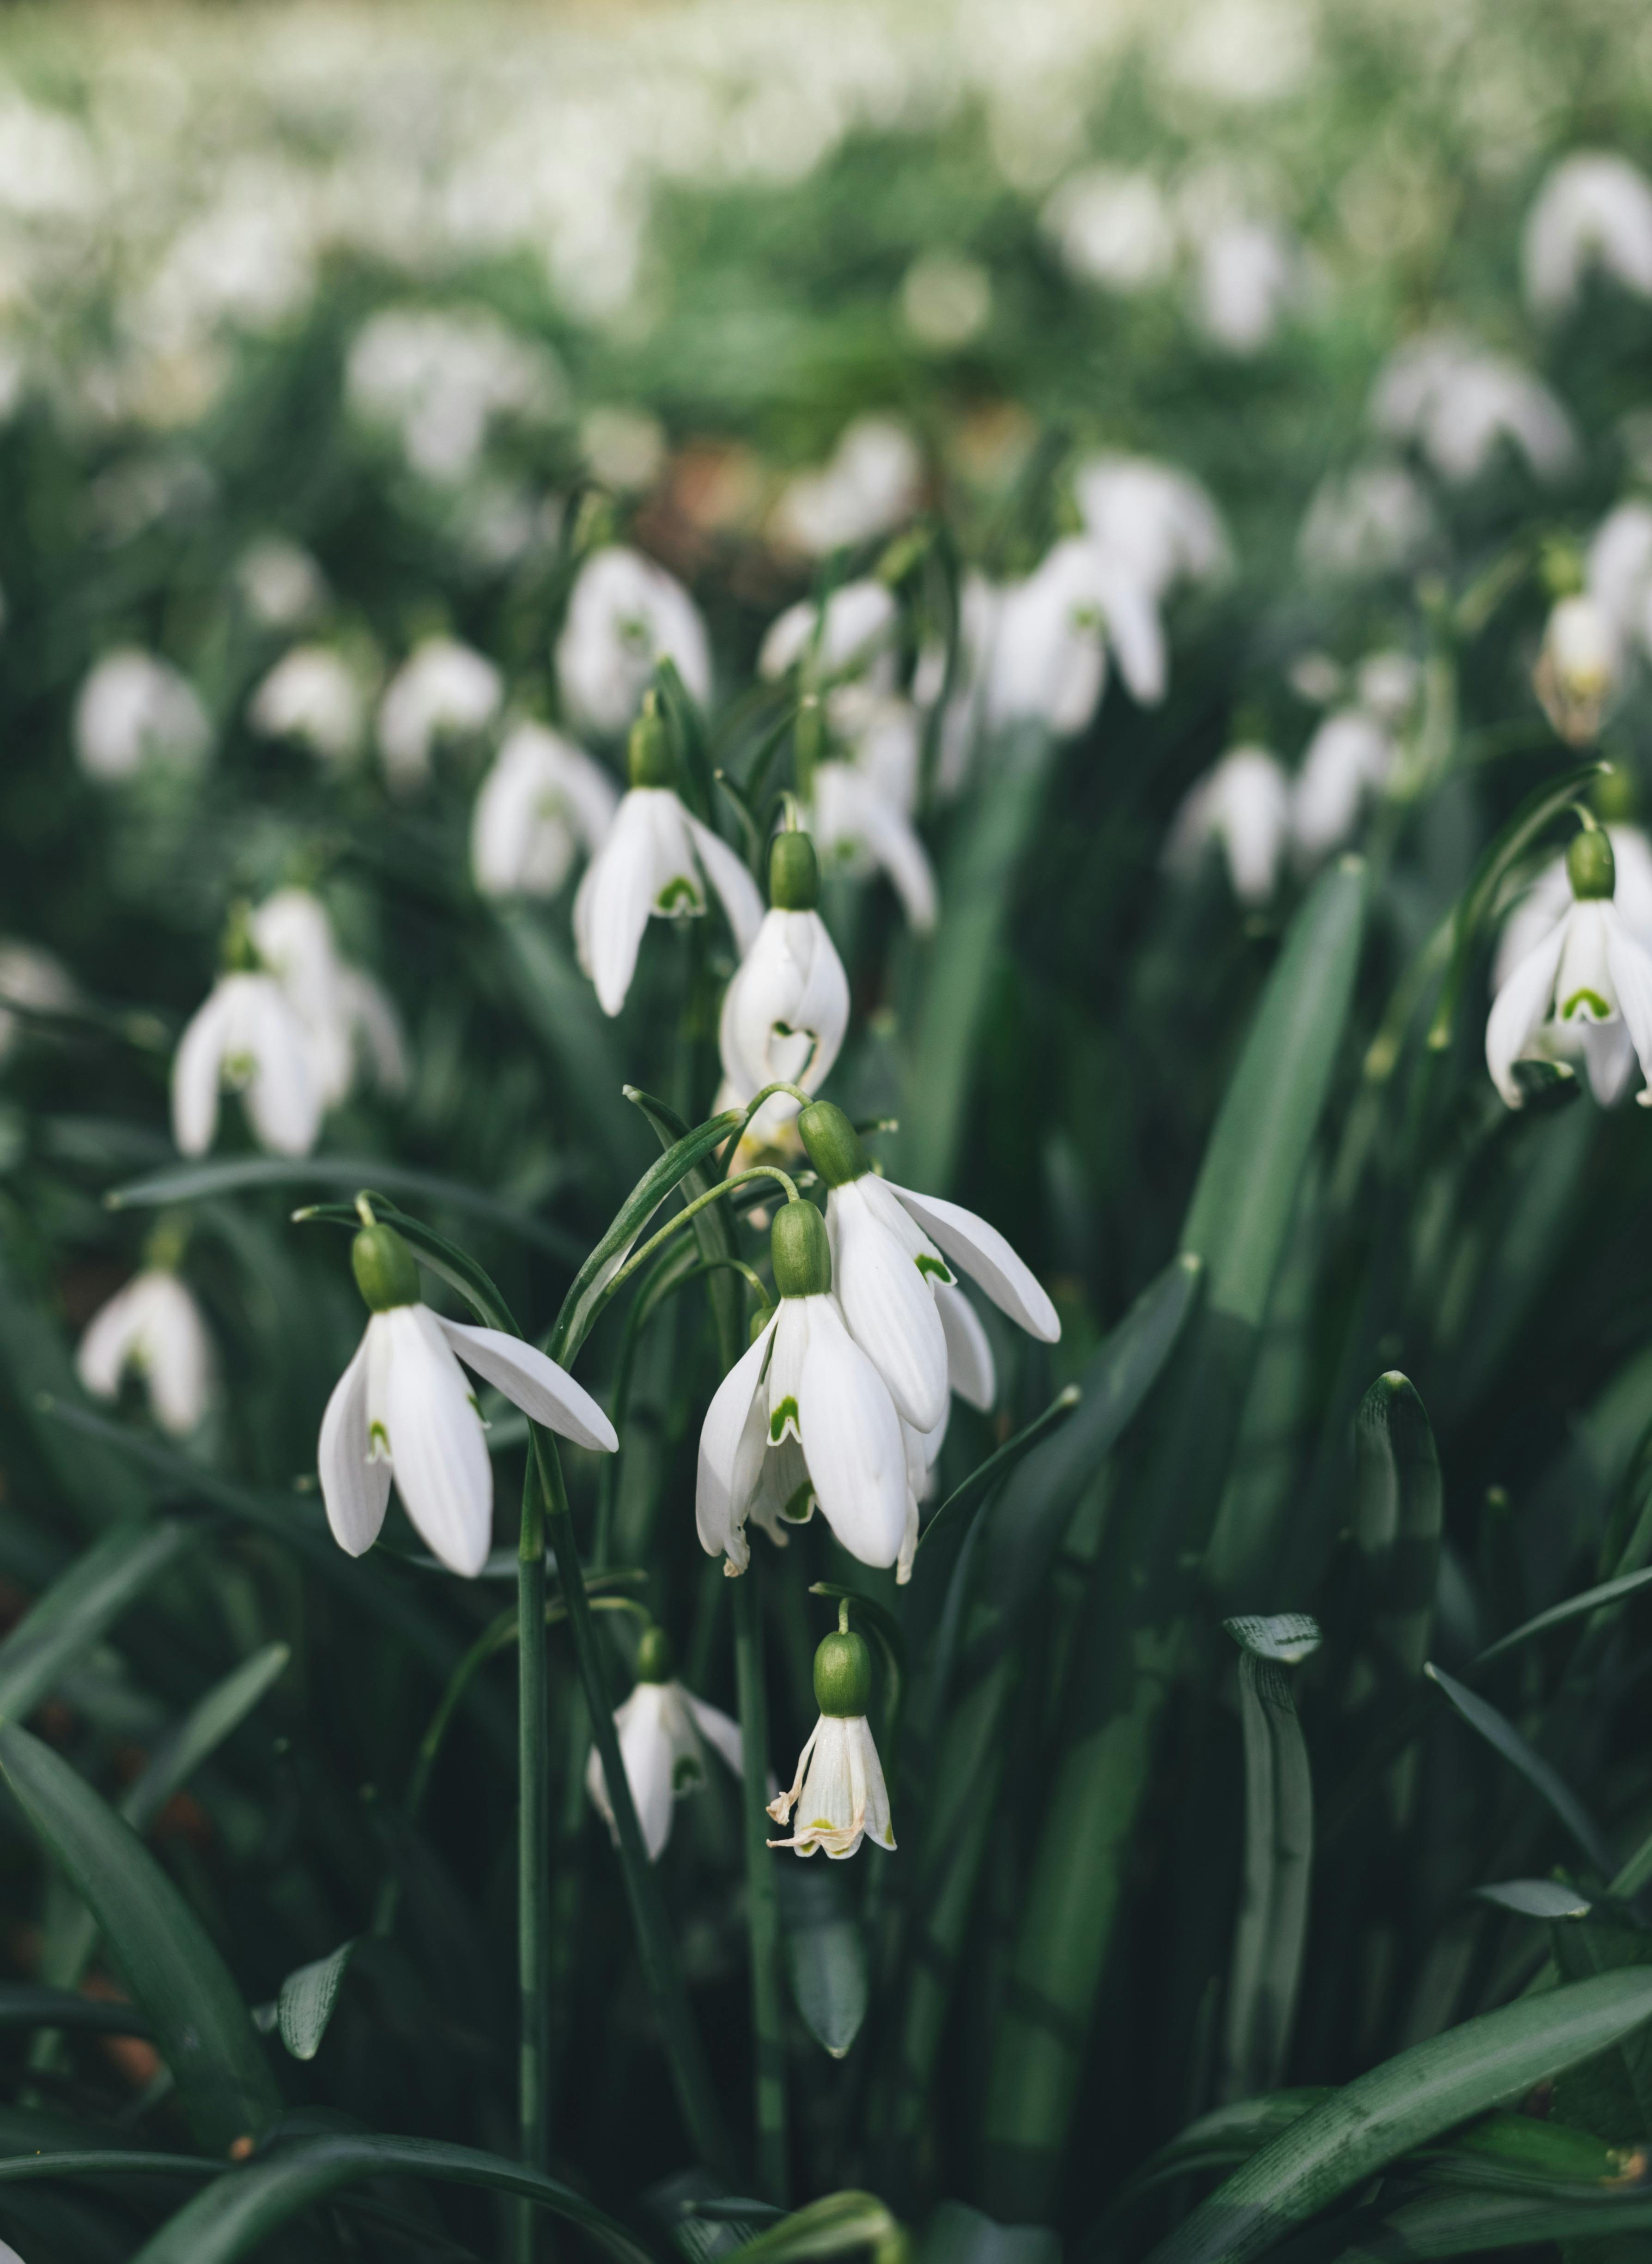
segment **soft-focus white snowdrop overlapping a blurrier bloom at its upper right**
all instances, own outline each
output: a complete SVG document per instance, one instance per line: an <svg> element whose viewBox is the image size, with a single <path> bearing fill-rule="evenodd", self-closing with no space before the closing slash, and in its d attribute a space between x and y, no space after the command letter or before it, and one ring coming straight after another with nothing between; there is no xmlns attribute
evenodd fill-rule
<svg viewBox="0 0 1652 2264"><path fill-rule="evenodd" d="M991 727L1036 720L1082 731L1107 686L1107 657L1143 706L1165 695L1165 638L1152 593L1100 543L1068 537L1005 591L987 677Z"/></svg>

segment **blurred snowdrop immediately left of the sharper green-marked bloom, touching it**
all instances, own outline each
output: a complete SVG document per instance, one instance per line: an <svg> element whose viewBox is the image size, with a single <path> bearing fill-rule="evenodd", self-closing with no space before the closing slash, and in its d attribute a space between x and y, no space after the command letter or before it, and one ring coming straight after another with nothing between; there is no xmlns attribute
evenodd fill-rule
<svg viewBox="0 0 1652 2264"><path fill-rule="evenodd" d="M620 795L609 772L543 722L518 722L471 817L471 878L484 897L554 897L575 856L609 838Z"/></svg>

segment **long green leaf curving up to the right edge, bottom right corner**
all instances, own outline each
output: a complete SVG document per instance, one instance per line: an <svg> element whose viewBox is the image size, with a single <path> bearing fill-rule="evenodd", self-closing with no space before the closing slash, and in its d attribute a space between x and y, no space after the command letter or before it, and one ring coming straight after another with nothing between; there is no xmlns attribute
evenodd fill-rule
<svg viewBox="0 0 1652 2264"><path fill-rule="evenodd" d="M1645 2019L1652 1972L1616 1972L1430 2035L1310 2108L1202 2201L1152 2264L1249 2264L1412 2146L1604 2051Z"/></svg>

